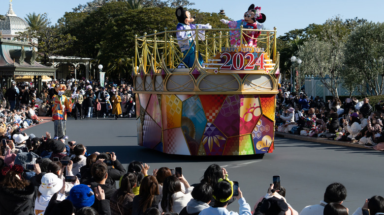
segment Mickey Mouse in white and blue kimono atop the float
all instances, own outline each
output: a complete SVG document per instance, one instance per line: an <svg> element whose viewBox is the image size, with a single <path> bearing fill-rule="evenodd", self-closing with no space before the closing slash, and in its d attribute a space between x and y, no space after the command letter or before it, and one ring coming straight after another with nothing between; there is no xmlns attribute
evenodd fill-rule
<svg viewBox="0 0 384 215"><path fill-rule="evenodd" d="M191 13L188 10L184 10L182 6L178 7L176 9L176 17L179 21L179 24L176 26L176 30L184 30L184 31L178 31L176 32L176 38L177 42L179 44L179 47L181 51L184 54L183 62L188 67L192 67L194 63L194 51L195 51L195 44L194 39L196 37L195 31L191 31L191 29L196 29L196 26L199 29L207 29L212 28L209 23L206 25L201 24L192 24L192 22L195 19L195 16L193 18L191 17ZM205 40L205 30L199 30L199 40ZM203 57L198 54L198 61L200 65L203 63Z"/></svg>

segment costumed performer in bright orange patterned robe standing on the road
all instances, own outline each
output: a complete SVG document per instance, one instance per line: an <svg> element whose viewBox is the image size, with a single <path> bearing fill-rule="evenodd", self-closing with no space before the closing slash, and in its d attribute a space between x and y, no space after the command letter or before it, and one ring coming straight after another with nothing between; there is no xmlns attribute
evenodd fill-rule
<svg viewBox="0 0 384 215"><path fill-rule="evenodd" d="M64 95L65 84L56 84L56 96L53 97L52 121L55 125L55 137L65 136L66 112L72 111L72 101Z"/></svg>

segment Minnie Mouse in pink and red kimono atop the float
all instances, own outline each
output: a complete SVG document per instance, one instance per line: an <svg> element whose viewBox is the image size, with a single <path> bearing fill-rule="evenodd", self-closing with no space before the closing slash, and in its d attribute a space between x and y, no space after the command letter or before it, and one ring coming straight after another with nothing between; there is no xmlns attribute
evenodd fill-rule
<svg viewBox="0 0 384 215"><path fill-rule="evenodd" d="M229 28L244 28L261 29L265 22L265 15L260 12L261 7L255 7L255 4L249 6L247 12L244 13L244 19L239 21L220 20L222 23L227 24ZM256 47L256 38L260 35L260 31L243 31L244 41L248 46ZM240 33L238 31L230 31L231 46L240 46Z"/></svg>

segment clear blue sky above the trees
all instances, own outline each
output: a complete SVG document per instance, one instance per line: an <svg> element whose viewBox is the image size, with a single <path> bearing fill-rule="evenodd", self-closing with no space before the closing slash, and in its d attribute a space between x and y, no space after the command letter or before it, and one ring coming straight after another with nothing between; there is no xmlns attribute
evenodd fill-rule
<svg viewBox="0 0 384 215"><path fill-rule="evenodd" d="M13 0L13 10L18 17L28 13L47 13L52 23L63 17L66 11L89 0ZM340 15L343 19L364 18L373 22L384 22L384 0L191 0L193 8L203 12L219 12L224 9L226 16L240 20L249 5L261 7L267 17L264 27L277 27L279 35L309 24L322 24L328 18ZM0 0L0 14L8 11L9 0ZM174 14L172 14L174 15Z"/></svg>

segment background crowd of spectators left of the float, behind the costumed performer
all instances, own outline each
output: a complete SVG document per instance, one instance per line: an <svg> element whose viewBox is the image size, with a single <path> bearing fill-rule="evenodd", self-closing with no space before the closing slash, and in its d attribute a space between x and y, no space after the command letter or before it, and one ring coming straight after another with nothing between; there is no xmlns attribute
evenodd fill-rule
<svg viewBox="0 0 384 215"><path fill-rule="evenodd" d="M28 128L42 122L41 117L52 116L56 84L66 85L67 97L73 102L68 115L74 119L136 115L133 87L124 80L105 82L105 87L94 80L53 80L43 82L41 92L33 82L12 81L0 92L0 133L4 128L10 133Z"/></svg>

